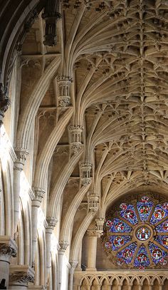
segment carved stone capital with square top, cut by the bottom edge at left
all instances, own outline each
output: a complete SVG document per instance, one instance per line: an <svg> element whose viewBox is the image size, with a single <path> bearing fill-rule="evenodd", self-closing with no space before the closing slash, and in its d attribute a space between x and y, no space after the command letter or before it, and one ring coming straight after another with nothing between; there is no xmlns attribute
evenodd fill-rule
<svg viewBox="0 0 168 290"><path fill-rule="evenodd" d="M11 265L9 289L27 290L28 282L34 281L34 271L28 265Z"/></svg>

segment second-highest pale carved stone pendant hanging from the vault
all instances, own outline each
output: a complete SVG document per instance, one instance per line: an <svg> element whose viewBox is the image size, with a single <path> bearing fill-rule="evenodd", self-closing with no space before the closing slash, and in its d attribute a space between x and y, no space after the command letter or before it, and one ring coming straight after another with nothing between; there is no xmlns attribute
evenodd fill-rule
<svg viewBox="0 0 168 290"><path fill-rule="evenodd" d="M70 125L70 150L74 154L78 154L82 143L81 143L81 134L83 132L83 126L80 125Z"/></svg>

